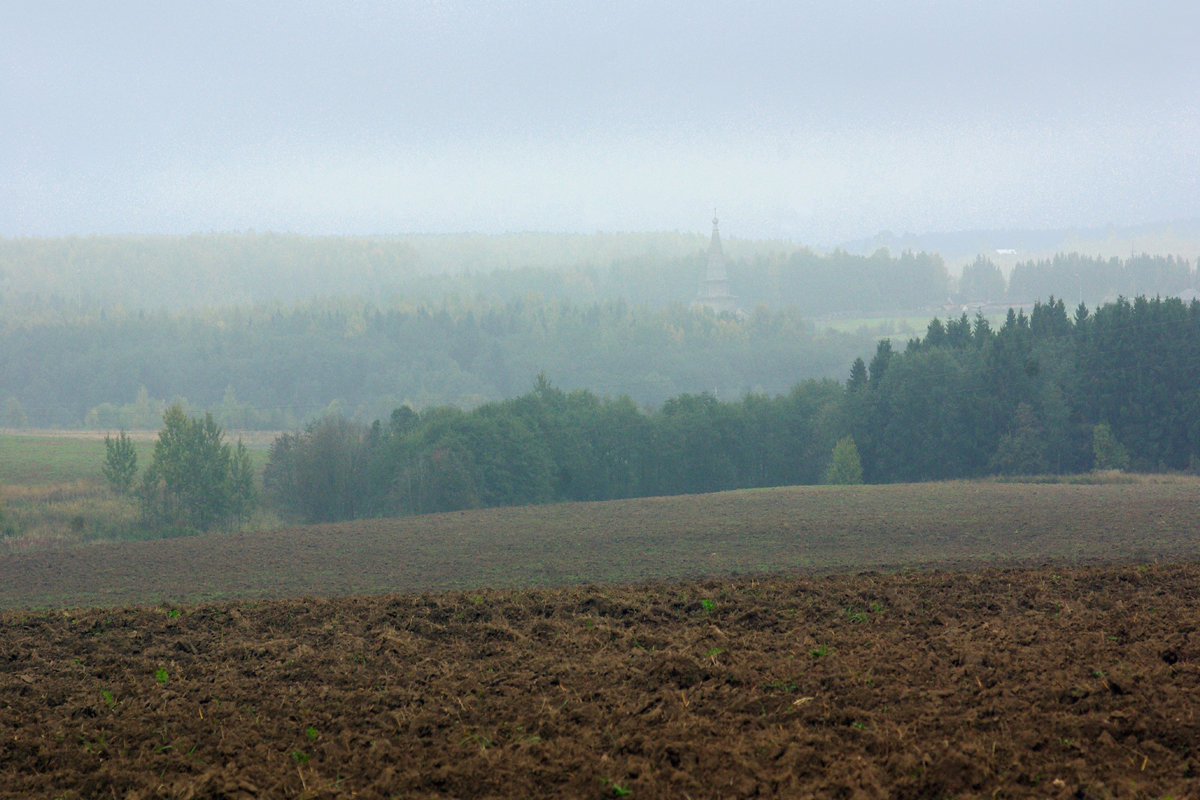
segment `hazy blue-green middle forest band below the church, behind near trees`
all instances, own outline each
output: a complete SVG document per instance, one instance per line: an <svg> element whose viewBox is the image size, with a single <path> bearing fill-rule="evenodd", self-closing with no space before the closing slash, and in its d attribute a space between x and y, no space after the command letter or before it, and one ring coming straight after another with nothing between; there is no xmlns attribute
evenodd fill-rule
<svg viewBox="0 0 1200 800"><path fill-rule="evenodd" d="M685 391L737 397L838 375L876 335L817 330L794 308L718 318L538 295L109 309L0 324L0 427L154 429L178 403L227 429L280 431L332 410L371 421L404 404L470 408L520 393L539 371L643 404Z"/></svg>

